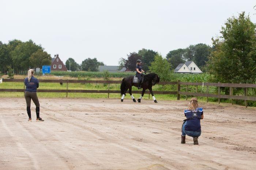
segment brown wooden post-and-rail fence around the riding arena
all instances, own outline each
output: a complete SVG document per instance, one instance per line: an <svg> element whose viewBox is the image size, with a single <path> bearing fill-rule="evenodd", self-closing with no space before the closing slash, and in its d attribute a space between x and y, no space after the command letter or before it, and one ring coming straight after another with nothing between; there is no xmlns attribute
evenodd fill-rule
<svg viewBox="0 0 256 170"><path fill-rule="evenodd" d="M51 83L67 83L67 89L38 89L37 92L58 92L58 93L66 93L66 97L68 97L68 93L120 93L120 90L109 90L110 84L121 84L121 81L104 81L104 80L39 80L40 82L51 82ZM3 79L4 82L24 82L23 79ZM68 89L69 83L95 83L95 84L108 84L108 90L75 90L75 89ZM256 88L256 84L234 84L234 83L208 83L208 82L180 82L180 81L174 81L174 82L167 82L162 81L159 82L160 85L177 85L177 91L154 91L154 94L176 94L177 100L180 100L180 95L186 95L186 99L188 96L202 96L207 97L215 97L218 98L218 103L220 103L220 98L227 98L231 99L231 104L233 104L233 99L237 100L245 100L245 106L247 107L247 101L256 101L256 97L254 96L248 96L248 88ZM181 85L186 86L186 92L182 92ZM188 86L196 86L196 92L189 92ZM198 93L197 89L198 86L206 86L207 90L206 93ZM209 86L215 86L218 87L218 94L211 94L208 93ZM229 87L230 88L230 94L225 95L220 93L221 87ZM244 88L244 96L237 96L233 95L234 88ZM0 89L0 92L24 92L25 91L25 85L23 85L23 89ZM141 93L140 90L134 90L132 93ZM150 94L150 92L147 90L145 94Z"/></svg>

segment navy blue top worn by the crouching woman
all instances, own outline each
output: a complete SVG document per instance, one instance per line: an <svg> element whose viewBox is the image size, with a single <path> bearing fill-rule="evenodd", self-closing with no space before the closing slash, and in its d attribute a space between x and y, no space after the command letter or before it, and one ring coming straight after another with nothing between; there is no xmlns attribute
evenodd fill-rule
<svg viewBox="0 0 256 170"><path fill-rule="evenodd" d="M197 117L192 117L193 112L197 112ZM201 124L200 124L200 119L201 116L203 115L203 108L197 108L195 111L191 110L185 110L184 111L185 116L187 117L187 124L185 125L185 130L186 131L201 131Z"/></svg>

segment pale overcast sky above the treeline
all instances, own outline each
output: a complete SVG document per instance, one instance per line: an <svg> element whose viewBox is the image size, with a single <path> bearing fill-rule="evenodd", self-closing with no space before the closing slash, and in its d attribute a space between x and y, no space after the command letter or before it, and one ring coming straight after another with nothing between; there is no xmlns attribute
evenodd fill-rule
<svg viewBox="0 0 256 170"><path fill-rule="evenodd" d="M32 39L65 63L97 58L118 65L140 49L163 57L211 45L227 18L242 11L256 23L255 0L0 0L0 41Z"/></svg>

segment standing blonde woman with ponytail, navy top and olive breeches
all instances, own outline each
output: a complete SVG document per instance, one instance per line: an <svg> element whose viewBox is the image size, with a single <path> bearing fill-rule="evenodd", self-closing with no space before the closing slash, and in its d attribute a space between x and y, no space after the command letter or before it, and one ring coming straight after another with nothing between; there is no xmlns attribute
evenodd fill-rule
<svg viewBox="0 0 256 170"><path fill-rule="evenodd" d="M25 78L24 83L26 85L25 99L27 103L27 115L29 115L29 121L32 121L30 111L31 99L35 104L35 112L37 113L36 121L44 121L41 117L39 117L40 104L37 98L37 88L39 87L39 82L37 78L34 77L33 69L29 69L29 72L27 73L27 78Z"/></svg>

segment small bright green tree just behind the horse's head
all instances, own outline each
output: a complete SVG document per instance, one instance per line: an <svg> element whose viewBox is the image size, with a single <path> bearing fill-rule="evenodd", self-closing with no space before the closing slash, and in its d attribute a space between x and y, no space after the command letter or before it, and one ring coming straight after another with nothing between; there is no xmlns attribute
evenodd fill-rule
<svg viewBox="0 0 256 170"><path fill-rule="evenodd" d="M154 57L154 61L151 62L149 69L161 77L161 80L166 81L170 74L171 65L168 63L167 59L157 54Z"/></svg>

